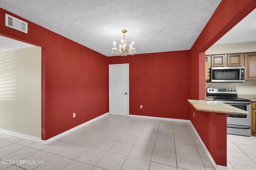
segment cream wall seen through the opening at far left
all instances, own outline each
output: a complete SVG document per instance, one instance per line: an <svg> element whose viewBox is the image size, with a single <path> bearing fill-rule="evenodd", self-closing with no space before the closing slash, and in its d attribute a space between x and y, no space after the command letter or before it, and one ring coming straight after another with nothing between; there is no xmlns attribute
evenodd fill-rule
<svg viewBox="0 0 256 170"><path fill-rule="evenodd" d="M0 51L0 129L41 138L41 47Z"/></svg>

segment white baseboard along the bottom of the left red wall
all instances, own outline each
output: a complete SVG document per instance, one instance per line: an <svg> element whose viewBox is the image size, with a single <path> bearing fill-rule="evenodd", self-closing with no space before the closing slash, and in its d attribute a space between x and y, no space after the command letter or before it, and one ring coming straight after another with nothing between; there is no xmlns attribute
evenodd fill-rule
<svg viewBox="0 0 256 170"><path fill-rule="evenodd" d="M48 144L48 143L50 143L50 142L52 142L52 141L55 141L56 139L58 139L58 138L60 138L60 137L63 137L63 136L65 136L65 135L67 135L68 133L70 133L70 132L72 132L72 131L75 131L75 130L77 130L77 129L79 129L80 127L83 127L83 126L85 126L85 125L87 125L87 124L89 124L89 123L92 123L93 121L96 121L97 119L100 119L100 118L102 118L102 117L104 117L104 116L106 116L106 115L109 115L109 113L107 112L107 113L104 113L103 115L100 115L100 116L98 116L98 117L95 117L94 119L91 119L91 120L89 120L89 121L86 121L85 123L82 123L81 125L78 125L78 126L76 126L76 127L73 127L72 129L69 129L69 130L67 130L67 131L64 131L64 132L62 132L62 133L60 133L60 134L58 134L58 135L56 135L56 136L54 136L54 137L51 137L50 139L47 139L47 140L41 140L40 142L43 144L43 145L46 145L46 144Z"/></svg>

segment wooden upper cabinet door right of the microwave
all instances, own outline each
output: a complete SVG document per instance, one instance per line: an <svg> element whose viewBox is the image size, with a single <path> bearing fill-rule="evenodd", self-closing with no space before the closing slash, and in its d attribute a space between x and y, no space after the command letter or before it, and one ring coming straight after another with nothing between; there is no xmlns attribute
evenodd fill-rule
<svg viewBox="0 0 256 170"><path fill-rule="evenodd" d="M256 80L256 53L245 53L245 80Z"/></svg>

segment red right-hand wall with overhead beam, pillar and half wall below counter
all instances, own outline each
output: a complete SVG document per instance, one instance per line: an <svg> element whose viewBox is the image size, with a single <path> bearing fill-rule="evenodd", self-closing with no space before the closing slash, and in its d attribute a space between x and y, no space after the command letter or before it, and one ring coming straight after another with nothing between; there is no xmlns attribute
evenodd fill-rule
<svg viewBox="0 0 256 170"><path fill-rule="evenodd" d="M255 8L255 0L222 0L190 50L190 99L205 100L204 51ZM190 120L216 164L226 166L226 115L200 112L190 107Z"/></svg>

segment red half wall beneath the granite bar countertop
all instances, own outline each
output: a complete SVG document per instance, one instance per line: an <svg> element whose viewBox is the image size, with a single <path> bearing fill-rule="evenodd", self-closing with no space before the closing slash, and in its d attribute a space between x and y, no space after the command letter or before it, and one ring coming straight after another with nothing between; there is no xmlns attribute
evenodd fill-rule
<svg viewBox="0 0 256 170"><path fill-rule="evenodd" d="M197 111L192 106L191 110L195 113L191 121L215 163L226 166L227 114Z"/></svg>

